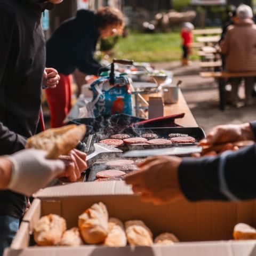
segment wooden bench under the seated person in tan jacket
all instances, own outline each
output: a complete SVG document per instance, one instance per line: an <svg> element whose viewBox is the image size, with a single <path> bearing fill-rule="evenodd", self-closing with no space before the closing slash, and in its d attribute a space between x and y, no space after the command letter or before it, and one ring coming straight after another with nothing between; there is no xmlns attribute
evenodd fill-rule
<svg viewBox="0 0 256 256"><path fill-rule="evenodd" d="M203 78L215 78L219 83L219 95L220 95L220 109L225 110L225 86L226 78L231 77L256 77L256 71L253 72L201 72L200 76Z"/></svg>

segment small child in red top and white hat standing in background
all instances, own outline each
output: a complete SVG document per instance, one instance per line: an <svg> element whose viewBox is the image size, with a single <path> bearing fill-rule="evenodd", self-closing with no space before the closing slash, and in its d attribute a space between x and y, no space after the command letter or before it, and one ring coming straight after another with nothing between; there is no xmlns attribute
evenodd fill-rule
<svg viewBox="0 0 256 256"><path fill-rule="evenodd" d="M190 65L190 62L188 61L188 55L191 52L191 43L193 41L193 34L192 30L194 29L194 25L190 22L183 23L182 29L181 29L181 38L182 38L182 60L181 63L183 66Z"/></svg>

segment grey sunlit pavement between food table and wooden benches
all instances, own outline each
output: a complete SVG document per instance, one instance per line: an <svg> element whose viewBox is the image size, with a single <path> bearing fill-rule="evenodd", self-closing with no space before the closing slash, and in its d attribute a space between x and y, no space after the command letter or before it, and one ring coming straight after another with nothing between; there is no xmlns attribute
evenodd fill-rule
<svg viewBox="0 0 256 256"><path fill-rule="evenodd" d="M154 63L156 69L172 70L173 83L182 81L181 91L197 123L209 132L219 124L239 124L256 120L256 99L252 106L235 108L226 105L225 111L219 109L218 85L213 78L199 76L199 62L193 61L189 67L182 67L180 62ZM239 96L244 98L243 86Z"/></svg>

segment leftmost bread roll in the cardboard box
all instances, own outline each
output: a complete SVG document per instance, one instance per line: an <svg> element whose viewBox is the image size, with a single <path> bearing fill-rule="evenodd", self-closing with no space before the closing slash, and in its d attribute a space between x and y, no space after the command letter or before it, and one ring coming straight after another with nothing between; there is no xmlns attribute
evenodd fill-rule
<svg viewBox="0 0 256 256"><path fill-rule="evenodd" d="M56 214L49 214L37 222L34 228L34 239L38 245L58 245L67 229L66 220Z"/></svg>

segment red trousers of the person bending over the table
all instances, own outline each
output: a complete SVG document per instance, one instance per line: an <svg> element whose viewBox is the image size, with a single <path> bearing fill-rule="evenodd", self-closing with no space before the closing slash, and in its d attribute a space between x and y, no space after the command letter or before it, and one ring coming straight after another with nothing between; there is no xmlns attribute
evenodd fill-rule
<svg viewBox="0 0 256 256"><path fill-rule="evenodd" d="M51 127L63 126L63 120L71 108L72 75L60 75L60 81L54 89L45 90L51 111Z"/></svg>

